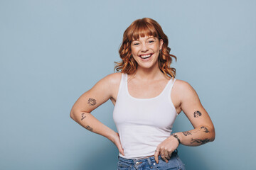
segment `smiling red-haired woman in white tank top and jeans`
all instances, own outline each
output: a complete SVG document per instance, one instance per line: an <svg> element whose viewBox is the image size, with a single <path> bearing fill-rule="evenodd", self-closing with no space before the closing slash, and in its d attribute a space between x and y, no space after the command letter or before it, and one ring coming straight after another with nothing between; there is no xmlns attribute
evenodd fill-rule
<svg viewBox="0 0 256 170"><path fill-rule="evenodd" d="M124 31L117 73L101 79L75 102L70 116L87 130L111 140L119 150L119 169L185 169L178 158L179 144L203 145L213 141L213 123L186 81L175 79L169 67L168 38L151 18L134 21ZM117 132L90 114L108 99L114 104ZM193 130L171 135L179 113Z"/></svg>

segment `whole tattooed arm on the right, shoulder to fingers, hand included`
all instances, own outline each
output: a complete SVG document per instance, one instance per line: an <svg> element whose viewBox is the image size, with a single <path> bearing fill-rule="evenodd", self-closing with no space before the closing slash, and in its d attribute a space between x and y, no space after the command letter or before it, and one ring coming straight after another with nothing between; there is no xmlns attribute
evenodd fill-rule
<svg viewBox="0 0 256 170"><path fill-rule="evenodd" d="M194 128L186 132L176 132L181 144L198 146L212 142L215 139L214 126L206 109L203 108L196 91L186 81L181 80L176 82L175 89L175 93L178 94L181 110ZM154 154L157 163L159 154L161 154L162 159L168 162L171 153L178 147L178 139L170 136L158 145Z"/></svg>

